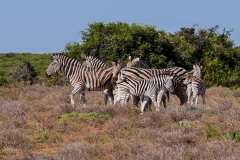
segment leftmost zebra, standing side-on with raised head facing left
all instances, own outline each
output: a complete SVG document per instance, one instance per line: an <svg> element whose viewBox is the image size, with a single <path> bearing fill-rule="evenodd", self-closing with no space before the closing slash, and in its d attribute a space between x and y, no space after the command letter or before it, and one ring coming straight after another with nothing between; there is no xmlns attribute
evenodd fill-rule
<svg viewBox="0 0 240 160"><path fill-rule="evenodd" d="M113 101L113 83L112 76L121 69L119 64L113 63L113 66L106 69L94 70L85 65L82 65L78 60L69 58L63 54L53 55L53 61L49 64L46 74L51 76L57 72L63 72L67 79L69 79L73 90L70 94L71 104L75 105L73 96L80 93L80 101L86 104L85 89L89 91L102 91L104 93L104 102L107 100ZM115 73L115 74L116 74Z"/></svg>

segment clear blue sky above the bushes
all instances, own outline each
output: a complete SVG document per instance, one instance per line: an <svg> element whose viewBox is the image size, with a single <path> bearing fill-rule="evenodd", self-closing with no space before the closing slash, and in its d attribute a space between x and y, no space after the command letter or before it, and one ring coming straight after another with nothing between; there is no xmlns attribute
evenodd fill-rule
<svg viewBox="0 0 240 160"><path fill-rule="evenodd" d="M183 26L233 29L239 0L1 0L0 52L54 52L80 40L92 22L130 22L175 32Z"/></svg>

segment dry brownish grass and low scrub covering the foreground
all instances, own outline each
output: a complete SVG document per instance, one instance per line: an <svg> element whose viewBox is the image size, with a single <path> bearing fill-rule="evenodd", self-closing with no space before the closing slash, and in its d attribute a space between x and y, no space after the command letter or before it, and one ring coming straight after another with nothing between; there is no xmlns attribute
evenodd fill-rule
<svg viewBox="0 0 240 160"><path fill-rule="evenodd" d="M103 106L102 94L87 93L88 105L73 110L68 87L0 88L0 159L190 160L238 159L239 90L213 87L207 104L140 115L136 107ZM76 97L77 98L77 97Z"/></svg>

